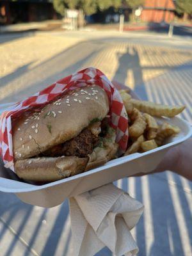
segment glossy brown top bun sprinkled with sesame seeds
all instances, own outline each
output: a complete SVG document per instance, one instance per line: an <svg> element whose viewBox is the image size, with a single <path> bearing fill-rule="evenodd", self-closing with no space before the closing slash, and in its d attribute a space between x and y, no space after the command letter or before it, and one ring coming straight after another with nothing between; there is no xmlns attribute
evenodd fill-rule
<svg viewBox="0 0 192 256"><path fill-rule="evenodd" d="M76 137L109 111L106 92L97 85L74 90L39 112L24 114L13 125L13 156L28 159Z"/></svg>

